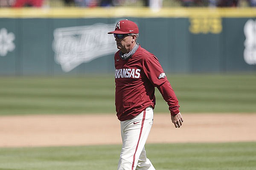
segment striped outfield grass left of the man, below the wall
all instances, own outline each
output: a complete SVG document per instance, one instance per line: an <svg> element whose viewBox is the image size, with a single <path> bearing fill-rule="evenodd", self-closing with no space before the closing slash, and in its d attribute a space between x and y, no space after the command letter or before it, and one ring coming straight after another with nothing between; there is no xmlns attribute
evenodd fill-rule
<svg viewBox="0 0 256 170"><path fill-rule="evenodd" d="M113 113L113 77L1 78L0 114Z"/></svg>

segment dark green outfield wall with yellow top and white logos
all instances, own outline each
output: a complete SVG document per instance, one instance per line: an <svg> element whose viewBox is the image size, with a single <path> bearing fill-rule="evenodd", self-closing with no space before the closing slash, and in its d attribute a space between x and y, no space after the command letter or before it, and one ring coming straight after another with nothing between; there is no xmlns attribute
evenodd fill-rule
<svg viewBox="0 0 256 170"><path fill-rule="evenodd" d="M255 8L0 8L0 75L111 73L121 19L166 72L256 72Z"/></svg>

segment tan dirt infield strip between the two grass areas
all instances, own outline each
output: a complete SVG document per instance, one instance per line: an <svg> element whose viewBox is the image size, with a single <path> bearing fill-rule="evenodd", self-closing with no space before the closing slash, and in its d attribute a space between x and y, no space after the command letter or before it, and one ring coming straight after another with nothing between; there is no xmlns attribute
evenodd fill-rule
<svg viewBox="0 0 256 170"><path fill-rule="evenodd" d="M176 129L169 114L154 115L147 143L256 141L256 114L183 114ZM0 116L0 147L121 144L113 115Z"/></svg>

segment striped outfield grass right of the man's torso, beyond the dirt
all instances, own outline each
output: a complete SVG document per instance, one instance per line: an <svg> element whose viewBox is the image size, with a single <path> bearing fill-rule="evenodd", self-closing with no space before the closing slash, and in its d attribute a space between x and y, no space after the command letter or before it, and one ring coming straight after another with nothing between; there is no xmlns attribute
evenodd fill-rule
<svg viewBox="0 0 256 170"><path fill-rule="evenodd" d="M256 75L169 75L169 82L182 112L256 113ZM161 100L157 91L156 111L163 112Z"/></svg>

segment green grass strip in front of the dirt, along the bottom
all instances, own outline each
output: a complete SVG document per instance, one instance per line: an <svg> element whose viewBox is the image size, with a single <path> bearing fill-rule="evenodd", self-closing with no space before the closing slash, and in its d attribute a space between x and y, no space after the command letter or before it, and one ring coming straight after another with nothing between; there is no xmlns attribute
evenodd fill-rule
<svg viewBox="0 0 256 170"><path fill-rule="evenodd" d="M0 148L0 170L115 170L119 145ZM157 170L255 170L256 142L147 144Z"/></svg>

